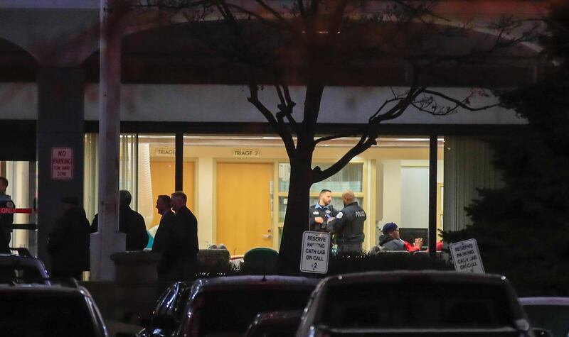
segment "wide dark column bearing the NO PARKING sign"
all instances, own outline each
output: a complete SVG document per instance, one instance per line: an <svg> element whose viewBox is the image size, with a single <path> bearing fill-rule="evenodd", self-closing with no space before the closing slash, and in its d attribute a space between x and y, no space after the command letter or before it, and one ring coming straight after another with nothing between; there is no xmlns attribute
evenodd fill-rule
<svg viewBox="0 0 569 337"><path fill-rule="evenodd" d="M38 257L47 265L46 244L60 216L60 199L83 199L83 81L78 67L38 70ZM53 170L54 155L73 165Z"/></svg>

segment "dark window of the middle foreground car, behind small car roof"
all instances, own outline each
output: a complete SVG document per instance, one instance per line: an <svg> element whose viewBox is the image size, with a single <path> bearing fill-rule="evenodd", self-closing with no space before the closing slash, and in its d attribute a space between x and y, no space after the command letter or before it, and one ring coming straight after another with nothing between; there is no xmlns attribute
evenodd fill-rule
<svg viewBox="0 0 569 337"><path fill-rule="evenodd" d="M300 310L312 289L235 289L206 292L198 311L198 336L242 335L263 311Z"/></svg>

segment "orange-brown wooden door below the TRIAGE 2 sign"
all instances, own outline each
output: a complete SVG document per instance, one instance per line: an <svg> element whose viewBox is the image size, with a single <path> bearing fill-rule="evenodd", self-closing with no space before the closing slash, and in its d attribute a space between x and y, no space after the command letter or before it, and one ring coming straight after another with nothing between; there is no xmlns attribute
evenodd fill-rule
<svg viewBox="0 0 569 337"><path fill-rule="evenodd" d="M218 162L216 238L231 255L272 247L273 165Z"/></svg>

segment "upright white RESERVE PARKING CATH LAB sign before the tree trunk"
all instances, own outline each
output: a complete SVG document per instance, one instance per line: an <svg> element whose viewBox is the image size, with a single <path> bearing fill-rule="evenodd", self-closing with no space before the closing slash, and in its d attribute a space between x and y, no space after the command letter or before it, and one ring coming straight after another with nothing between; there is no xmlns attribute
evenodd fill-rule
<svg viewBox="0 0 569 337"><path fill-rule="evenodd" d="M329 256L330 233L304 231L300 271L326 274Z"/></svg>

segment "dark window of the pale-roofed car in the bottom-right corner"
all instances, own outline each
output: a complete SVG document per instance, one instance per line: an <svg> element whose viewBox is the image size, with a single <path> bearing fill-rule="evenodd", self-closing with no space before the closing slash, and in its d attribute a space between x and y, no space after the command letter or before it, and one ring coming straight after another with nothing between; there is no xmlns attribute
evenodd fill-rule
<svg viewBox="0 0 569 337"><path fill-rule="evenodd" d="M526 305L531 326L551 331L553 337L565 337L569 333L569 306Z"/></svg>

